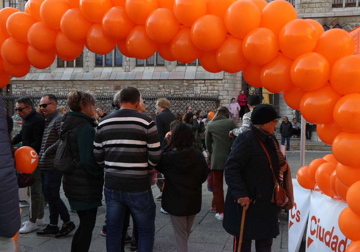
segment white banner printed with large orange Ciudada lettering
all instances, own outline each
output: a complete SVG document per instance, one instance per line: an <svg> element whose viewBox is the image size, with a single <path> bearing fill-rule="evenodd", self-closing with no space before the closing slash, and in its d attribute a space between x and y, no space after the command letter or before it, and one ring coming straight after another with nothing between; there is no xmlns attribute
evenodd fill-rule
<svg viewBox="0 0 360 252"><path fill-rule="evenodd" d="M338 225L339 215L345 207L347 204L321 194L319 190L311 192L306 252L345 252L351 240L341 233Z"/></svg>

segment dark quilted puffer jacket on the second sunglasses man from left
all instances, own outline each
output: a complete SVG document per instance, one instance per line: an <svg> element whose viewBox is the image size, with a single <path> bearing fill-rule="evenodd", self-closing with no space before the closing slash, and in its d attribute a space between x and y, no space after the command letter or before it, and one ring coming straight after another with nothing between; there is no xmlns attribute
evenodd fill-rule
<svg viewBox="0 0 360 252"><path fill-rule="evenodd" d="M56 150L59 146L60 125L62 114L56 109L46 117L45 131L42 136L38 167L41 170L50 170L54 164Z"/></svg>

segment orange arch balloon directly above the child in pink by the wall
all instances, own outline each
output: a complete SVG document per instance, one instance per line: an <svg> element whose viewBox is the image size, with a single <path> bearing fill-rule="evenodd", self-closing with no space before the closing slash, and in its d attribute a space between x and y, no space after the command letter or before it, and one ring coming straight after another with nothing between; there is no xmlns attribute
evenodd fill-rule
<svg viewBox="0 0 360 252"><path fill-rule="evenodd" d="M216 62L225 72L237 73L247 66L242 44L243 40L228 36L217 49Z"/></svg>

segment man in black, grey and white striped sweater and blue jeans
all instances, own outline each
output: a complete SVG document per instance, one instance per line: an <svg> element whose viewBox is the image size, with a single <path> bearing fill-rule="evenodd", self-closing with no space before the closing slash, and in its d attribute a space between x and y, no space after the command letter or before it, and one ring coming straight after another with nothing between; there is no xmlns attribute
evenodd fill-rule
<svg viewBox="0 0 360 252"><path fill-rule="evenodd" d="M156 125L137 111L139 103L137 89L122 89L120 110L100 121L95 132L95 160L105 171L108 252L120 248L126 207L138 226L138 251L153 251L156 207L148 172L159 163L161 150Z"/></svg>

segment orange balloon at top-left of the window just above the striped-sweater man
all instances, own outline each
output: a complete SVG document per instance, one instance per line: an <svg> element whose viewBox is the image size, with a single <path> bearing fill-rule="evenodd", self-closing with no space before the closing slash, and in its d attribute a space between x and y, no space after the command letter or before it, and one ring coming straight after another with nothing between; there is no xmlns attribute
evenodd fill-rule
<svg viewBox="0 0 360 252"><path fill-rule="evenodd" d="M126 2L127 3L127 2ZM126 39L126 48L137 59L147 59L156 52L157 44L146 34L145 26L135 26Z"/></svg>

